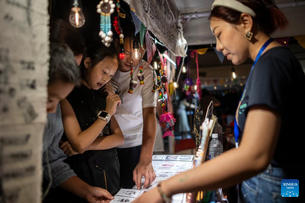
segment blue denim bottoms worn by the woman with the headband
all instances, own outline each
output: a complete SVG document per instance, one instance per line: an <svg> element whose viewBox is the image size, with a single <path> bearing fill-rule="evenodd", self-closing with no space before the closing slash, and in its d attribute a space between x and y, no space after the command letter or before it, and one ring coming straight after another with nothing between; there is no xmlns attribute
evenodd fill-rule
<svg viewBox="0 0 305 203"><path fill-rule="evenodd" d="M252 178L239 184L239 202L296 202L300 198L281 196L281 180L287 178L282 168L271 166Z"/></svg>

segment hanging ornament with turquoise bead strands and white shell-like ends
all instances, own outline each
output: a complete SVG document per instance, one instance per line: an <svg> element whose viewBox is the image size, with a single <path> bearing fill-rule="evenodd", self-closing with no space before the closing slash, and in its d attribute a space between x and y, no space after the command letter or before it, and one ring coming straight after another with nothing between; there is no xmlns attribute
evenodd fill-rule
<svg viewBox="0 0 305 203"><path fill-rule="evenodd" d="M104 0L100 1L96 8L96 12L101 14L99 36L102 38L102 43L106 47L109 47L110 43L113 41L110 15L114 12L115 4L112 0Z"/></svg>

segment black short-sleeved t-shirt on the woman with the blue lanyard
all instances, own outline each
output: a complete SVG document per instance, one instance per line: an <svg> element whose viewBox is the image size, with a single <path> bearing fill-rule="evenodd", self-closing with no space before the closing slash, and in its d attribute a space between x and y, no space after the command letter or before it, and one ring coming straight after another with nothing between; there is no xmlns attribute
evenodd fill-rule
<svg viewBox="0 0 305 203"><path fill-rule="evenodd" d="M304 95L304 72L289 48L266 51L249 76L236 117L242 135L250 107L264 105L279 112L282 123L271 162L276 166L302 164Z"/></svg>

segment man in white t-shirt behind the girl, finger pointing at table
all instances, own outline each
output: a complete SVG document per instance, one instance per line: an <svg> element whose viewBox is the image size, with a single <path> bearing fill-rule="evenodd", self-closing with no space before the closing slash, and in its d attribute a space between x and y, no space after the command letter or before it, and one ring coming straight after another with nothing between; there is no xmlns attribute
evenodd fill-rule
<svg viewBox="0 0 305 203"><path fill-rule="evenodd" d="M156 93L152 93L153 68L142 58L132 60L133 80L138 85L133 93L128 93L130 83L130 46L135 39L135 28L126 24L123 27L125 58L121 60L119 68L120 78L116 80L119 84L118 94L122 99L122 104L117 108L116 118L125 138L125 144L117 147L120 159L121 185L123 188L132 188L135 184L138 189L141 187L142 176L145 177L143 188L147 187L156 178L152 167L152 152L156 139ZM138 40L139 41L139 40ZM118 40L115 40L119 50ZM132 47L132 46L131 46ZM140 46L143 57L145 43ZM142 60L144 85L140 85L137 74L140 73L139 66ZM155 74L156 75L156 74Z"/></svg>

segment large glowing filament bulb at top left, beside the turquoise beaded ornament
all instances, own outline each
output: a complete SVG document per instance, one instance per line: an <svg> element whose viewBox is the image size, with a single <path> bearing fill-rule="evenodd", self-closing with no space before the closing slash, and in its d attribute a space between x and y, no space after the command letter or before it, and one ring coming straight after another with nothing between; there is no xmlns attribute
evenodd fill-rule
<svg viewBox="0 0 305 203"><path fill-rule="evenodd" d="M70 10L69 22L74 27L81 27L85 24L85 17L78 0L74 0Z"/></svg>

